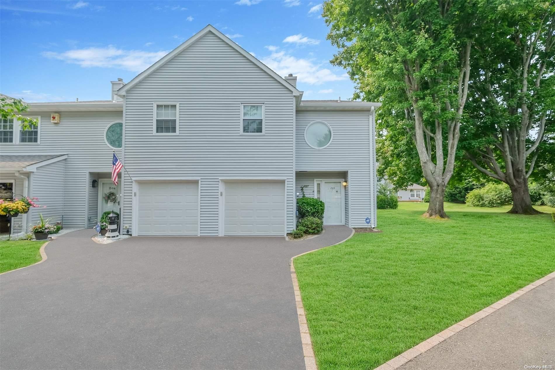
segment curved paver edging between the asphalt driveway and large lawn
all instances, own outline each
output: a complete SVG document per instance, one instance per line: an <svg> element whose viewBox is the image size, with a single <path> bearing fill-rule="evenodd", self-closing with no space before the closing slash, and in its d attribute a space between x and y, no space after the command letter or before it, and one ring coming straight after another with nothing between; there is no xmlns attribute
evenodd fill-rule
<svg viewBox="0 0 555 370"><path fill-rule="evenodd" d="M295 272L295 265L293 263L293 259L302 256L303 254L312 253L314 251L319 251L322 248L336 246L337 244L341 244L355 234L355 229L351 228L351 235L339 243L331 244L331 246L325 246L321 248L312 249L312 251L308 251L305 253L297 254L296 256L291 257L289 265L291 267L291 281L293 283L293 290L295 292L295 304L297 306L297 319L299 319L299 331L301 333L301 343L302 343L302 354L305 358L305 368L306 370L318 370L318 366L316 365L316 358L314 357L314 348L312 348L312 340L310 339L310 332L309 327L306 322L306 314L305 308L302 306L302 298L301 292L299 289L299 281L297 280L297 273Z"/></svg>

